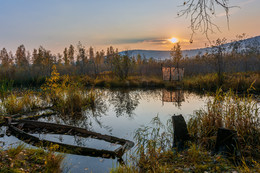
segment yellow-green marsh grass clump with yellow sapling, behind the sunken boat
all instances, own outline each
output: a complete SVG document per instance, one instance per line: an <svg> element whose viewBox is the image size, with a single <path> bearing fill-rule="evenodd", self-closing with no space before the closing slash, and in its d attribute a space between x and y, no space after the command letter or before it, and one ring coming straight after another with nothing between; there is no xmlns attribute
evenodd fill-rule
<svg viewBox="0 0 260 173"><path fill-rule="evenodd" d="M81 114L87 108L95 106L95 93L87 92L78 82L69 76L60 76L56 66L52 67L50 78L42 86L43 96L53 108L62 115Z"/></svg>

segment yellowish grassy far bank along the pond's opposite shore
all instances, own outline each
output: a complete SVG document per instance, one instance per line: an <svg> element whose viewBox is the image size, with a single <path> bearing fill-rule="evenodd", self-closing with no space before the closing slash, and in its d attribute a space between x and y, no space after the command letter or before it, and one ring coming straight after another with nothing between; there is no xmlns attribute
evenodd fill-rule
<svg viewBox="0 0 260 173"><path fill-rule="evenodd" d="M223 90L232 89L238 92L246 92L253 84L254 92L260 92L260 74L259 73L234 73L224 74L223 83L218 84L217 74L206 74L196 76L186 76L181 82L163 81L161 76L129 76L125 80L119 80L116 77L105 76L91 78L88 76L74 77L75 80L85 86L96 86L105 88L182 88L192 91L216 91L221 87Z"/></svg>

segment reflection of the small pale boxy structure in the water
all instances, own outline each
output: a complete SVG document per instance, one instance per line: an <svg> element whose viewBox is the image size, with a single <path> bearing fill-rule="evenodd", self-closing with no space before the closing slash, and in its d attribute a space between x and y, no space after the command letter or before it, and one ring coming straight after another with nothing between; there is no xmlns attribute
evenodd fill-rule
<svg viewBox="0 0 260 173"><path fill-rule="evenodd" d="M175 106L181 107L181 103L185 101L183 90L175 90L175 91L162 91L162 104L164 102L173 102Z"/></svg>

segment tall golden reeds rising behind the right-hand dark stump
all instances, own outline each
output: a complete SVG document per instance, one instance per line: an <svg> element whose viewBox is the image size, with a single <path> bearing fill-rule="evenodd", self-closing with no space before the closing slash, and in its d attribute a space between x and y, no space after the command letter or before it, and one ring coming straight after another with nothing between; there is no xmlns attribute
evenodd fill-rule
<svg viewBox="0 0 260 173"><path fill-rule="evenodd" d="M214 146L219 127L236 130L243 153L260 158L260 112L252 95L241 97L231 90L220 89L188 123L193 139L208 149Z"/></svg>

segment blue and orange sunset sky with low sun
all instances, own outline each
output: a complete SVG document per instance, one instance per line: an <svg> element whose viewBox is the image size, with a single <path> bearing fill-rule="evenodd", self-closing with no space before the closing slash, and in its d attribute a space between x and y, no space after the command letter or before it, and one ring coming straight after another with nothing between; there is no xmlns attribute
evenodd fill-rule
<svg viewBox="0 0 260 173"><path fill-rule="evenodd" d="M96 50L112 45L122 50L170 50L178 38L183 49L208 43L201 33L190 44L189 18L177 17L183 0L0 0L0 49L28 50L40 45L54 53L80 41ZM246 33L260 35L260 1L230 0L230 29L223 10L214 22L220 27L210 39Z"/></svg>

